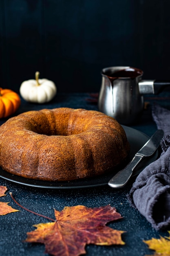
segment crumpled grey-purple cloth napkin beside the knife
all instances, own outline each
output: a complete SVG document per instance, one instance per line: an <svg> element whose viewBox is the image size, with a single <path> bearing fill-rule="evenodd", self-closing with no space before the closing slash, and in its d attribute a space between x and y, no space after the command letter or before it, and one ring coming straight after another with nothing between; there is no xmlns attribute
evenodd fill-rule
<svg viewBox="0 0 170 256"><path fill-rule="evenodd" d="M170 228L170 110L154 105L152 117L164 131L162 153L138 175L128 200L158 230Z"/></svg>

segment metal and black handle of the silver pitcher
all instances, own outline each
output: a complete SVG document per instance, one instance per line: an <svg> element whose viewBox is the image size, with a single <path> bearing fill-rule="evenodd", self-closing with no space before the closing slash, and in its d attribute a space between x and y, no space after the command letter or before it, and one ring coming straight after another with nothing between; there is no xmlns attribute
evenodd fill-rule
<svg viewBox="0 0 170 256"><path fill-rule="evenodd" d="M168 86L170 86L170 81L168 80L141 80L139 82L139 93L159 94Z"/></svg>

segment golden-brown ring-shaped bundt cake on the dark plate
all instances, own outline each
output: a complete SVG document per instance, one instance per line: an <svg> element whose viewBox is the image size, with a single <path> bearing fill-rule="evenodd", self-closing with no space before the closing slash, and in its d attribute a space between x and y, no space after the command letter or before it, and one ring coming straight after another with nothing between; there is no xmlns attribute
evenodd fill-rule
<svg viewBox="0 0 170 256"><path fill-rule="evenodd" d="M105 173L130 146L112 117L93 110L24 112L0 126L0 166L38 180L75 180Z"/></svg>

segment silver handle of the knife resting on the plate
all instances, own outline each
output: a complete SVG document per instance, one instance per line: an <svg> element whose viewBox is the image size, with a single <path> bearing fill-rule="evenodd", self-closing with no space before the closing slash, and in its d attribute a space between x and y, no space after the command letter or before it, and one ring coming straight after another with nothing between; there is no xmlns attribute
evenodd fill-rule
<svg viewBox="0 0 170 256"><path fill-rule="evenodd" d="M130 179L133 170L139 164L144 155L135 155L132 161L121 171L119 171L113 178L108 182L108 185L112 188L119 189L126 185Z"/></svg>

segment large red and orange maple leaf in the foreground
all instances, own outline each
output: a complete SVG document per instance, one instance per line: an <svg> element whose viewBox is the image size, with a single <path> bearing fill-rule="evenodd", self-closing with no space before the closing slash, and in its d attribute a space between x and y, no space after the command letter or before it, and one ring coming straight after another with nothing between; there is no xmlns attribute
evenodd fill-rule
<svg viewBox="0 0 170 256"><path fill-rule="evenodd" d="M86 253L86 244L124 245L121 234L106 226L107 222L121 217L114 207L107 205L87 208L82 205L64 207L55 211L55 222L34 225L34 231L27 233L26 242L44 243L45 253L54 256L78 256Z"/></svg>

